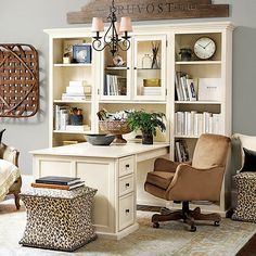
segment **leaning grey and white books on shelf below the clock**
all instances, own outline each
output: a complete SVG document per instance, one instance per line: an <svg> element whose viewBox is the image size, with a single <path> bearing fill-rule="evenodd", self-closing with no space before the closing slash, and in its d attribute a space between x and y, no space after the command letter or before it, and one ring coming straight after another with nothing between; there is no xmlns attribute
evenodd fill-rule
<svg viewBox="0 0 256 256"><path fill-rule="evenodd" d="M196 101L195 82L188 74L176 73L175 88L178 101Z"/></svg>

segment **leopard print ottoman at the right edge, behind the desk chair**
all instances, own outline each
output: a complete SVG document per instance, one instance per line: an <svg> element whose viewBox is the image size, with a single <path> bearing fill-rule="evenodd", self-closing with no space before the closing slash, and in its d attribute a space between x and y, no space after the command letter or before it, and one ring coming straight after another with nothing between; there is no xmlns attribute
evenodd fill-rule
<svg viewBox="0 0 256 256"><path fill-rule="evenodd" d="M256 222L256 172L241 172L234 176L238 188L238 206L234 220Z"/></svg>

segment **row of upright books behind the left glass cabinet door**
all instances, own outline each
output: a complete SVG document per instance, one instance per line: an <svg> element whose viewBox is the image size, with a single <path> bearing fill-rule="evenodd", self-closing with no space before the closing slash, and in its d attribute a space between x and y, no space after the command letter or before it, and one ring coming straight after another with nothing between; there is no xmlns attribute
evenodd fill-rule
<svg viewBox="0 0 256 256"><path fill-rule="evenodd" d="M104 95L126 95L127 79L117 75L105 75Z"/></svg>

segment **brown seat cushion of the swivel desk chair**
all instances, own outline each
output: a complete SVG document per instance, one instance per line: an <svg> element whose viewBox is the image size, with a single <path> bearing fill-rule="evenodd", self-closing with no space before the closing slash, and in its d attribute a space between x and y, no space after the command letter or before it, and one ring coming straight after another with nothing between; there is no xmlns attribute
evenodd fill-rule
<svg viewBox="0 0 256 256"><path fill-rule="evenodd" d="M166 190L171 182L175 172L151 171L148 172L146 182Z"/></svg>

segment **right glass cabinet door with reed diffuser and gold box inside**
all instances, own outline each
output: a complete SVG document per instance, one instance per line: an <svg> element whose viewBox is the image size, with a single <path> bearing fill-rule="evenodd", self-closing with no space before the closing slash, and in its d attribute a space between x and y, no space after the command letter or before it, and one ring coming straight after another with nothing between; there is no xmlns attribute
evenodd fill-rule
<svg viewBox="0 0 256 256"><path fill-rule="evenodd" d="M165 100L166 35L135 36L133 92L138 100Z"/></svg>

